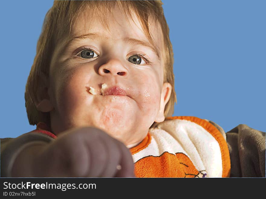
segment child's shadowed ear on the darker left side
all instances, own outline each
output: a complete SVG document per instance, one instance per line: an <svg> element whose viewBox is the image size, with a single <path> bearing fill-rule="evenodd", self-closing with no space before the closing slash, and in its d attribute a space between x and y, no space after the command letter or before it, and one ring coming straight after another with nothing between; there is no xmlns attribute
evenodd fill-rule
<svg viewBox="0 0 266 199"><path fill-rule="evenodd" d="M38 85L37 92L36 92L36 99L34 104L38 111L41 112L50 112L54 109L50 101L50 96L48 93L49 90L49 81L46 75L41 72L39 78L41 79L41 83Z"/></svg>

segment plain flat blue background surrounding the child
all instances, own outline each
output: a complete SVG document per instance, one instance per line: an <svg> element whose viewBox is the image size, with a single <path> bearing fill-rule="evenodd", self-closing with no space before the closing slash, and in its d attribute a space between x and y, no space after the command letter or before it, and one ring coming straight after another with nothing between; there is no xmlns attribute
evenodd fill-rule
<svg viewBox="0 0 266 199"><path fill-rule="evenodd" d="M174 49L174 116L209 119L225 131L265 131L264 0L163 0ZM28 124L24 91L44 16L53 1L1 2L1 135Z"/></svg>

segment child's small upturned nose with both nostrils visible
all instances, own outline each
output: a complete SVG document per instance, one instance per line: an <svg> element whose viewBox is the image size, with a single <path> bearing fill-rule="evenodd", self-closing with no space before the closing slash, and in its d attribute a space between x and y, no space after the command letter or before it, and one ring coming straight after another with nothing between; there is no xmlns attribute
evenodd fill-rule
<svg viewBox="0 0 266 199"><path fill-rule="evenodd" d="M107 63L99 67L99 75L128 75L128 70L118 59L110 59Z"/></svg>

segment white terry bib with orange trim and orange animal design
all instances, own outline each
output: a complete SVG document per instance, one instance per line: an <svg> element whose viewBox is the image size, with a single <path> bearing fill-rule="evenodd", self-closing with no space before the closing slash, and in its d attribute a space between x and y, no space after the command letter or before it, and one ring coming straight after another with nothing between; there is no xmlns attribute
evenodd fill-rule
<svg viewBox="0 0 266 199"><path fill-rule="evenodd" d="M130 149L136 177L229 177L229 150L206 120L169 117Z"/></svg>

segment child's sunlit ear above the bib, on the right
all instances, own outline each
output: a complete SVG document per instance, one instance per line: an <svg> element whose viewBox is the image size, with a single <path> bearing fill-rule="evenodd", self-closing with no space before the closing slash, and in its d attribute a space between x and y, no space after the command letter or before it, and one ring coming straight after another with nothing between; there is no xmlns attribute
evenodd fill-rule
<svg viewBox="0 0 266 199"><path fill-rule="evenodd" d="M164 107L170 99L171 92L172 92L172 85L168 82L164 82L162 92L161 92L160 108L159 108L159 112L155 118L155 122L163 122L164 121L164 119L165 119Z"/></svg>

